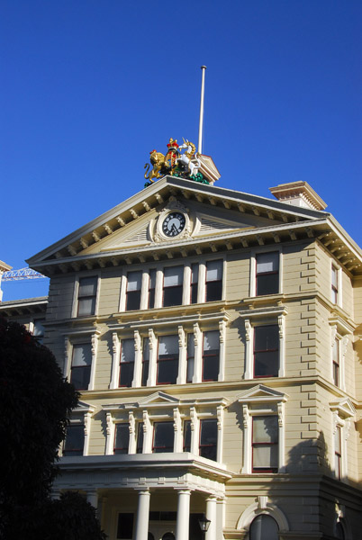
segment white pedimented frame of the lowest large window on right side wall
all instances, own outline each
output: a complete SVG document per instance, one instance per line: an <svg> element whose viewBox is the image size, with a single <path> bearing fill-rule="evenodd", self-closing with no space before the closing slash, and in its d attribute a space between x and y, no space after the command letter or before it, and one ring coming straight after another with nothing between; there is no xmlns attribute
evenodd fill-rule
<svg viewBox="0 0 362 540"><path fill-rule="evenodd" d="M348 445L347 440L350 433L352 420L356 418L356 410L352 402L348 399L330 402L331 411L331 463L335 477L338 479L338 474L335 470L335 434L337 426L340 428L340 482L348 482Z"/></svg>

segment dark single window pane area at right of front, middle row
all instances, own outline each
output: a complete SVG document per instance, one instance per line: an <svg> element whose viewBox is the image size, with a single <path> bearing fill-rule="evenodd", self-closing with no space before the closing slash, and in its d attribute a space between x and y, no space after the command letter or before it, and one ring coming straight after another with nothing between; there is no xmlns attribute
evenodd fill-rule
<svg viewBox="0 0 362 540"><path fill-rule="evenodd" d="M277 377L279 329L277 325L254 328L254 377Z"/></svg>

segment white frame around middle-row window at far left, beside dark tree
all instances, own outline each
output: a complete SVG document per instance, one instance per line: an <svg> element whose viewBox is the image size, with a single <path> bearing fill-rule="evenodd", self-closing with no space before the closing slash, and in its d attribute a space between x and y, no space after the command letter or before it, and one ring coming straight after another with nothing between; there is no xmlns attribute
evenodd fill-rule
<svg viewBox="0 0 362 540"><path fill-rule="evenodd" d="M90 343L92 351L92 364L91 364L91 373L89 377L89 384L86 390L81 392L86 392L87 390L95 390L95 370L96 370L96 356L98 350L98 338L101 334L101 329L86 329L74 331L71 334L64 335L64 365L63 365L63 376L67 377L70 381L70 371L72 364L73 356L73 346L80 345L83 343Z"/></svg>

